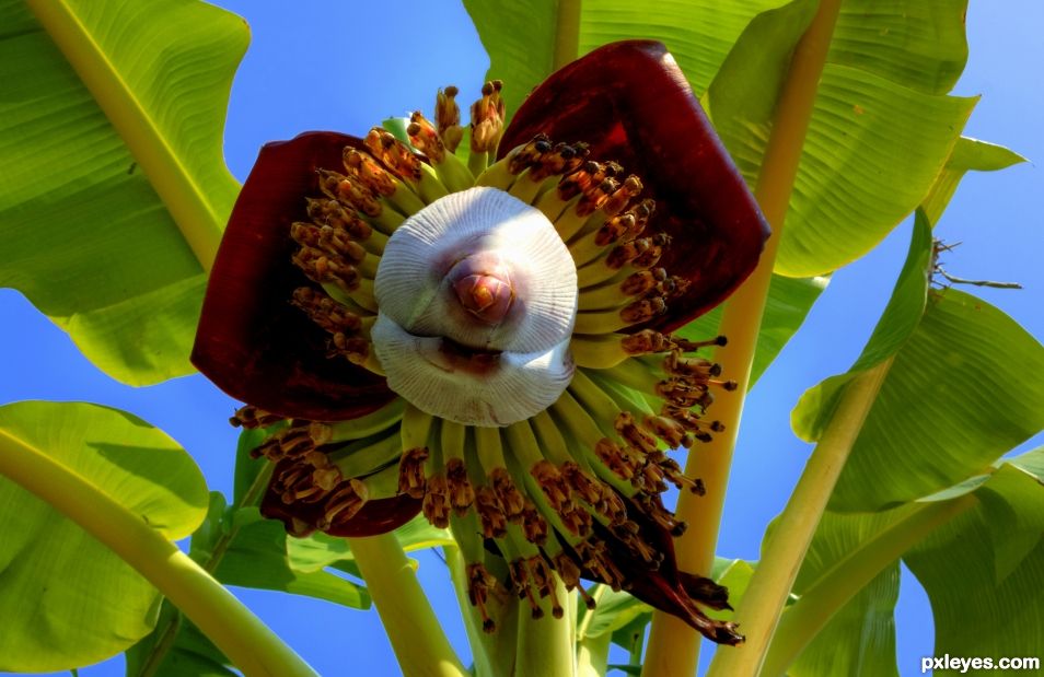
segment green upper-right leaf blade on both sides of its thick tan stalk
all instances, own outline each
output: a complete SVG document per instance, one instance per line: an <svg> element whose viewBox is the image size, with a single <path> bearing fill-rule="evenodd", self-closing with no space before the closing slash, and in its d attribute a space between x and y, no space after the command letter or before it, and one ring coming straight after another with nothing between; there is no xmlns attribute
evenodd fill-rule
<svg viewBox="0 0 1044 677"><path fill-rule="evenodd" d="M963 7L933 3L915 12L932 22L941 39L904 51L900 47L914 45L923 28L903 16L906 4L844 3L839 36L865 35L862 12L891 25L889 39L833 44L794 179L778 272L823 275L873 248L924 200L972 112L973 98L932 93L952 84L949 79L926 92L907 78L918 68L960 73L966 47L952 46L964 44ZM794 0L755 17L707 92L710 117L752 185L789 57L816 5Z"/></svg>

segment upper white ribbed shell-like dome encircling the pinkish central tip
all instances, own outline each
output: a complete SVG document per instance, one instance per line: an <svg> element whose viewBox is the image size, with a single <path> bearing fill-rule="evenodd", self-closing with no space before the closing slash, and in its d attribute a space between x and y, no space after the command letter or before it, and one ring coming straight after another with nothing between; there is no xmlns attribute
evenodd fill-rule
<svg viewBox="0 0 1044 677"><path fill-rule="evenodd" d="M497 268L514 293L498 323L466 311L455 266ZM374 280L381 312L416 336L476 349L538 353L572 332L577 270L540 210L496 188L452 192L411 215L391 236Z"/></svg>

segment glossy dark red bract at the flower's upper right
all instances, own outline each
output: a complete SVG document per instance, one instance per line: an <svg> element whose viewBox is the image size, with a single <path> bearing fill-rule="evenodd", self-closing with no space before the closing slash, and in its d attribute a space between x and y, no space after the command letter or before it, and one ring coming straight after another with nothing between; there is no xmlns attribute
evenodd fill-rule
<svg viewBox="0 0 1044 677"><path fill-rule="evenodd" d="M537 132L587 141L657 198L656 227L674 238L660 265L692 284L650 326L684 325L754 270L768 224L662 44L614 43L553 74L511 120L500 154Z"/></svg>

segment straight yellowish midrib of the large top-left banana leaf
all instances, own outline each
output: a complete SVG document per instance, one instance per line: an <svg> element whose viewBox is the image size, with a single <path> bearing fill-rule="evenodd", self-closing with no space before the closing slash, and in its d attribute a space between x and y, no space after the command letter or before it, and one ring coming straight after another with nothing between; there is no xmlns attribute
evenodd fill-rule
<svg viewBox="0 0 1044 677"><path fill-rule="evenodd" d="M209 272L221 241L224 214L214 211L207 200L207 190L182 164L156 121L69 3L62 0L26 0L26 3L148 174L199 265Z"/></svg>

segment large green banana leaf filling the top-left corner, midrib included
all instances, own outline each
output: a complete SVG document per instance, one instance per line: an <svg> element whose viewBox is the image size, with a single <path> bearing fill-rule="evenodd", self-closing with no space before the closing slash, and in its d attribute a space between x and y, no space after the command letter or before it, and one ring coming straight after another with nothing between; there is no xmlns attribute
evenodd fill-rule
<svg viewBox="0 0 1044 677"><path fill-rule="evenodd" d="M190 373L246 25L197 0L0 0L0 285L124 383Z"/></svg>

